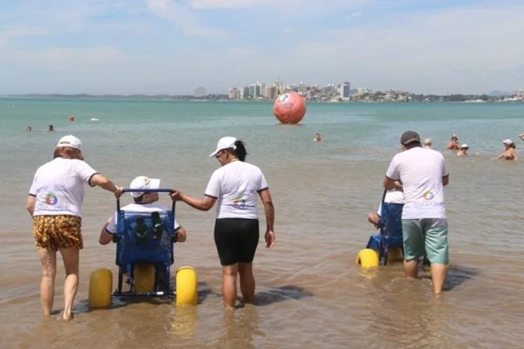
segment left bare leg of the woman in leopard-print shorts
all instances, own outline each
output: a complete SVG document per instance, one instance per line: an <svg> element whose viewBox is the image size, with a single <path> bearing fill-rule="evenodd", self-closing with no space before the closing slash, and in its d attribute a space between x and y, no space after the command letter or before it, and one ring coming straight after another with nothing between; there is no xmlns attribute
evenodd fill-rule
<svg viewBox="0 0 524 349"><path fill-rule="evenodd" d="M48 316L55 302L55 278L57 276L57 253L48 248L38 250L38 258L42 264L42 280L40 282L40 302L43 315Z"/></svg>

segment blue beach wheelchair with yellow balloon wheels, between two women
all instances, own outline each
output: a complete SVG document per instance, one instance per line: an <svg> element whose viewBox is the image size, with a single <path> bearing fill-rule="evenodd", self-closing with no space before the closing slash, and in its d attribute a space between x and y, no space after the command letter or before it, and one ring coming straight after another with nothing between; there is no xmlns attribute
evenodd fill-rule
<svg viewBox="0 0 524 349"><path fill-rule="evenodd" d="M124 188L123 192L133 191L170 193L171 189ZM113 296L175 296L177 306L197 304L197 272L191 267L178 268L176 291L170 287L177 241L174 227L176 202L171 210L148 213L124 211L120 209L120 199L117 199L116 207L117 232L113 235L113 243L116 244L118 287L112 292L113 273L110 269L94 270L89 286L90 307L107 307ZM124 290L124 283L129 285L129 290Z"/></svg>

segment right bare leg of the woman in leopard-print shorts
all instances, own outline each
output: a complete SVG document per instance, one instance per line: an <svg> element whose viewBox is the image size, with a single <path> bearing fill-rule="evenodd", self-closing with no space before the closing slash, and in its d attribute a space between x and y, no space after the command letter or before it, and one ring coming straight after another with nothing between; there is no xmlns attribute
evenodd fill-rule
<svg viewBox="0 0 524 349"><path fill-rule="evenodd" d="M64 260L64 267L66 268L66 282L64 283L64 313L62 319L69 321L73 318L73 302L78 290L78 264L80 250L76 247L62 248L62 259Z"/></svg>

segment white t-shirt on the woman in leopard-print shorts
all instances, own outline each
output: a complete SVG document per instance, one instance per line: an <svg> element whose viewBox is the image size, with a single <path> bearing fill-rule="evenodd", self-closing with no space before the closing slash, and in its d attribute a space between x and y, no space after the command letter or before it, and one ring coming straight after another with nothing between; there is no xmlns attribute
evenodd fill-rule
<svg viewBox="0 0 524 349"><path fill-rule="evenodd" d="M29 189L29 195L36 198L33 216L81 217L84 186L94 174L97 171L78 159L55 158L41 165Z"/></svg>

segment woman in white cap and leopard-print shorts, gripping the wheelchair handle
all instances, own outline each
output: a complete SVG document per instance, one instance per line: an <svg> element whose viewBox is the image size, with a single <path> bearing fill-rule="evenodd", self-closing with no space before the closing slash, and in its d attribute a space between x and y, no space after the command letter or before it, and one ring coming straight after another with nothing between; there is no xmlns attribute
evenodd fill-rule
<svg viewBox="0 0 524 349"><path fill-rule="evenodd" d="M53 160L36 170L29 189L27 210L33 218L34 241L42 264L40 297L44 315L50 315L55 299L57 251L66 269L64 311L60 318L71 320L71 307L78 290L78 263L83 248L81 234L84 186L100 186L122 195L122 188L83 161L82 143L73 135L62 137Z"/></svg>

